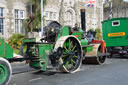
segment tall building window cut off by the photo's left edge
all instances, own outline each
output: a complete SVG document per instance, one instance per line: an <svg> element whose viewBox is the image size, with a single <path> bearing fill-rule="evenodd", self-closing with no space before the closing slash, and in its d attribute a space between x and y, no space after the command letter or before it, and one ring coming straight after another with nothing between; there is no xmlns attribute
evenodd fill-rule
<svg viewBox="0 0 128 85"><path fill-rule="evenodd" d="M4 13L3 13L4 9L0 7L0 33L2 33L2 35L4 35Z"/></svg>

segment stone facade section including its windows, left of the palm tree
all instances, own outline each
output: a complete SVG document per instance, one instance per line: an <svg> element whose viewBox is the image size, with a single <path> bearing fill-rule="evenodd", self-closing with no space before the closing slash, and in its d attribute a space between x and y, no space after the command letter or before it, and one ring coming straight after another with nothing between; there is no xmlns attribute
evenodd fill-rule
<svg viewBox="0 0 128 85"><path fill-rule="evenodd" d="M24 34L26 0L0 0L0 33L8 39L13 33Z"/></svg>

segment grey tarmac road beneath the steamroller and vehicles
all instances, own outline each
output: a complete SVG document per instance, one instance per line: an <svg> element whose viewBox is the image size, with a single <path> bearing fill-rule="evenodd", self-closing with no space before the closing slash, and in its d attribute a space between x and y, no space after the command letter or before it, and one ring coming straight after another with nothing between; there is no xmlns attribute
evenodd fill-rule
<svg viewBox="0 0 128 85"><path fill-rule="evenodd" d="M13 66L9 85L128 85L128 59L108 59L104 65L82 65L74 74L39 72L26 65Z"/></svg>

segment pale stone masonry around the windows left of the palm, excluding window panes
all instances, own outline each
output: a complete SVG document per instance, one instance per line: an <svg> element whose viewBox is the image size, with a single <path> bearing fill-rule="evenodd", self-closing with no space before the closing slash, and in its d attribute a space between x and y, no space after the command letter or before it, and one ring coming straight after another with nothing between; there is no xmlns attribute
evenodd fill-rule
<svg viewBox="0 0 128 85"><path fill-rule="evenodd" d="M4 38L15 33L15 9L23 10L26 18L26 0L0 0L0 7L4 8Z"/></svg>

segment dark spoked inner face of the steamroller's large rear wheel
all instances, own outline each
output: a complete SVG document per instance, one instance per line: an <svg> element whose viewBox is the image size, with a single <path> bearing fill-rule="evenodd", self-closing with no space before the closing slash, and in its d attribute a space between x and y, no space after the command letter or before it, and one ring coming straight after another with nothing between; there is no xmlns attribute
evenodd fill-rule
<svg viewBox="0 0 128 85"><path fill-rule="evenodd" d="M81 48L75 38L68 38L63 44L62 61L64 68L69 72L75 71L81 63ZM66 63L66 59L70 57Z"/></svg>

